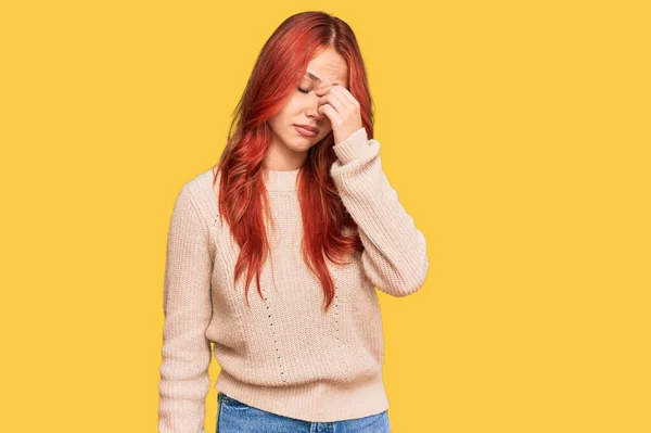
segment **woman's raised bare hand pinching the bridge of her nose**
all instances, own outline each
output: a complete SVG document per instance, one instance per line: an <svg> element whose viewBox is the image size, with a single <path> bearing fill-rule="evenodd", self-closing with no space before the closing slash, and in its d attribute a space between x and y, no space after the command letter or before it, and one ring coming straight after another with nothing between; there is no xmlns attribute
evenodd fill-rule
<svg viewBox="0 0 651 433"><path fill-rule="evenodd" d="M332 124L334 144L339 144L362 127L359 102L344 86L330 85L316 91L317 112L326 114Z"/></svg>

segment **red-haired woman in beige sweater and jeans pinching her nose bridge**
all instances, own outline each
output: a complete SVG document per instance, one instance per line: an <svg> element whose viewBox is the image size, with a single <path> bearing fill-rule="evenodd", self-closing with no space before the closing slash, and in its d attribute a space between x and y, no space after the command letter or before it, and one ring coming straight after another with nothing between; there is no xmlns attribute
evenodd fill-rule
<svg viewBox="0 0 651 433"><path fill-rule="evenodd" d="M429 262L371 138L350 27L285 20L237 114L171 216L159 432L205 432L210 343L218 432L388 432L375 288L409 295Z"/></svg>

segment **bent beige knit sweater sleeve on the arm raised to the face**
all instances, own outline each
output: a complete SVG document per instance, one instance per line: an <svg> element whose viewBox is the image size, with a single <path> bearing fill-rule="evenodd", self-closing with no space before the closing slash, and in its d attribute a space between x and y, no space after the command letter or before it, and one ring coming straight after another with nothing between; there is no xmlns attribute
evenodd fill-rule
<svg viewBox="0 0 651 433"><path fill-rule="evenodd" d="M365 246L366 276L382 292L407 296L424 283L430 263L423 233L398 201L382 170L380 143L363 127L333 147L330 169Z"/></svg>

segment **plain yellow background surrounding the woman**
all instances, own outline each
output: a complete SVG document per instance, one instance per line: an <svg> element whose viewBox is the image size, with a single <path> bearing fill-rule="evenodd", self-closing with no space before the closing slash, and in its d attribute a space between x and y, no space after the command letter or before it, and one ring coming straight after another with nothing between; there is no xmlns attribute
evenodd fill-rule
<svg viewBox="0 0 651 433"><path fill-rule="evenodd" d="M3 2L0 431L157 431L174 200L309 9L356 31L427 240L380 295L393 432L651 431L644 3Z"/></svg>

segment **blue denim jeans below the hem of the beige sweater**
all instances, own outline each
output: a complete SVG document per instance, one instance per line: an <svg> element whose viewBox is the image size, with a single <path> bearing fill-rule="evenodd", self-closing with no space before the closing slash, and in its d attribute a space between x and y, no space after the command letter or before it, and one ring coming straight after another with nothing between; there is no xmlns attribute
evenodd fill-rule
<svg viewBox="0 0 651 433"><path fill-rule="evenodd" d="M310 422L271 413L217 393L216 433L391 433L388 410L370 417Z"/></svg>

